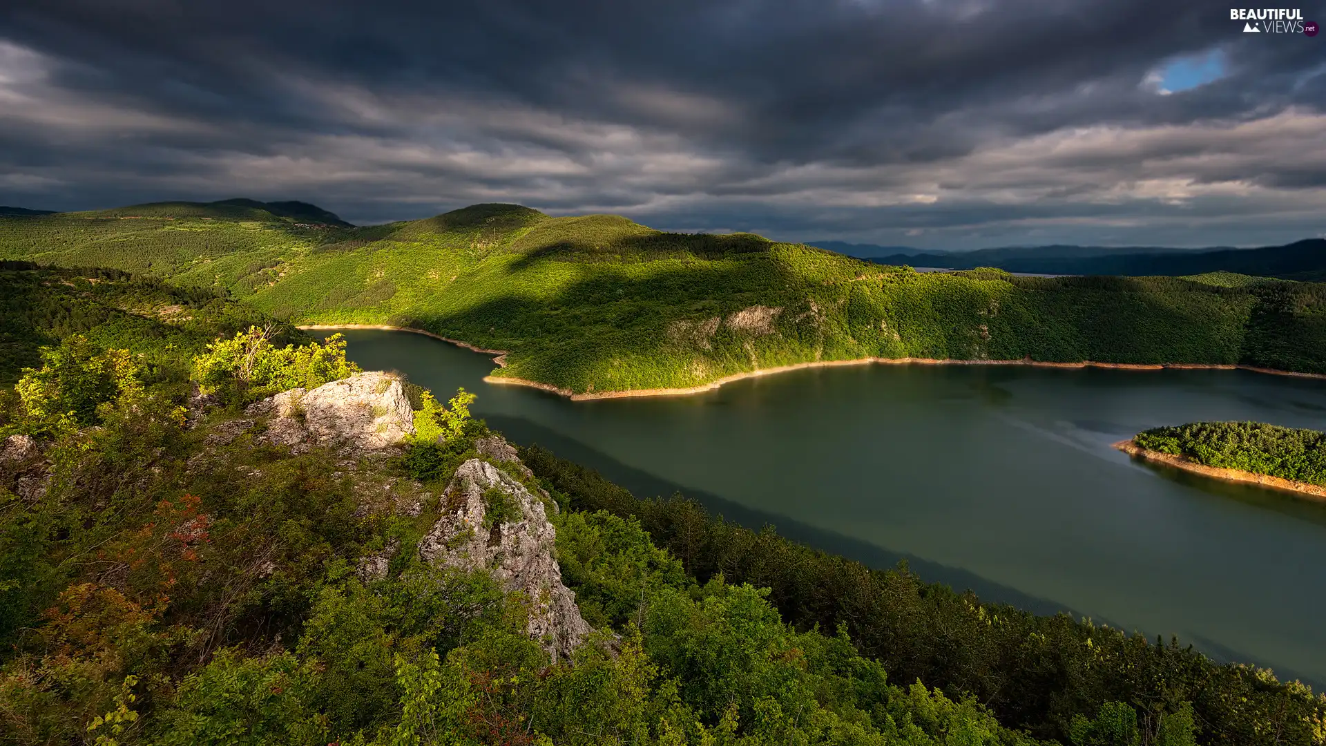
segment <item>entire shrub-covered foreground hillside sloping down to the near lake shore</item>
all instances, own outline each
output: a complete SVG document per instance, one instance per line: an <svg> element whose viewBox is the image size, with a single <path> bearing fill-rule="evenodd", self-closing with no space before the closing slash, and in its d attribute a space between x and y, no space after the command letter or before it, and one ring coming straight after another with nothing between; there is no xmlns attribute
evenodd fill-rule
<svg viewBox="0 0 1326 746"><path fill-rule="evenodd" d="M414 437L373 453L292 441L317 398L263 397L354 376L334 340L115 271L4 273L44 311L0 319L37 353L0 396L0 741L1326 743L1306 686L638 500L495 446L463 393L407 386ZM475 496L489 540L545 500L599 631L572 660L532 599L428 559L463 543L428 539L465 465L509 479Z"/></svg>

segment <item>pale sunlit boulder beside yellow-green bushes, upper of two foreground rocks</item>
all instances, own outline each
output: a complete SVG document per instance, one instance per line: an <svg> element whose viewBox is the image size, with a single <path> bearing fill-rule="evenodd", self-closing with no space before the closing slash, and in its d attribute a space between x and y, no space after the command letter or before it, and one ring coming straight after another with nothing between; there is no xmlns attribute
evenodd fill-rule
<svg viewBox="0 0 1326 746"><path fill-rule="evenodd" d="M379 450L414 434L414 413L400 380L379 370L332 381L312 392L281 392L244 413L274 415L260 439L294 450L313 445Z"/></svg>

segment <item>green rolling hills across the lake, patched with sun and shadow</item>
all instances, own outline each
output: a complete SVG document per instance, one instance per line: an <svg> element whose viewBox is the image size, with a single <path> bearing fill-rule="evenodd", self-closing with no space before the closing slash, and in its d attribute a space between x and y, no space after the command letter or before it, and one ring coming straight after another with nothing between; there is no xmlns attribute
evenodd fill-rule
<svg viewBox="0 0 1326 746"><path fill-rule="evenodd" d="M366 228L190 210L0 220L0 258L228 288L296 323L418 327L511 350L500 376L575 392L861 357L1326 372L1323 285L920 275L760 236L499 204Z"/></svg>

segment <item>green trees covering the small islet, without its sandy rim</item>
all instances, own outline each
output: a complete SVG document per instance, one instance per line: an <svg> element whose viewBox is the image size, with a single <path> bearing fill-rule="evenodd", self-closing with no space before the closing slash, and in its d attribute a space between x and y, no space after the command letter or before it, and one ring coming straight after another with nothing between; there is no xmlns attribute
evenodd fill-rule
<svg viewBox="0 0 1326 746"><path fill-rule="evenodd" d="M1326 487L1326 433L1264 422L1189 422L1138 433L1136 445L1205 466Z"/></svg>

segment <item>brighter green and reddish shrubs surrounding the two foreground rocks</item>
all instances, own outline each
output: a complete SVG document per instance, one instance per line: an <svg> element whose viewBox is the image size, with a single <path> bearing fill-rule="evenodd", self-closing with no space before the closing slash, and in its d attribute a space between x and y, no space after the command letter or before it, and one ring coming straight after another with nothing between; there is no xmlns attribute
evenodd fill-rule
<svg viewBox="0 0 1326 746"><path fill-rule="evenodd" d="M192 374L215 382L225 342L256 336L216 340ZM306 346L346 369L341 348ZM252 358L277 377L308 372L289 348ZM183 417L184 381L145 381L145 361L74 335L24 372L19 389L41 382L44 396L9 400L4 430L45 442L0 462L3 742L1032 743L969 697L890 682L841 632L790 629L765 591L695 583L606 512L557 518L565 577L601 633L552 662L524 633L528 600L484 572L408 548L383 579L355 571L412 547L446 510L460 459L427 457L476 457L487 429L464 411L472 397L439 413L444 446L346 463L261 446L252 421L236 437L233 409ZM76 426L44 427L56 414ZM1077 731L1116 730L1116 709ZM1183 706L1162 725L1158 743L1192 742Z"/></svg>

